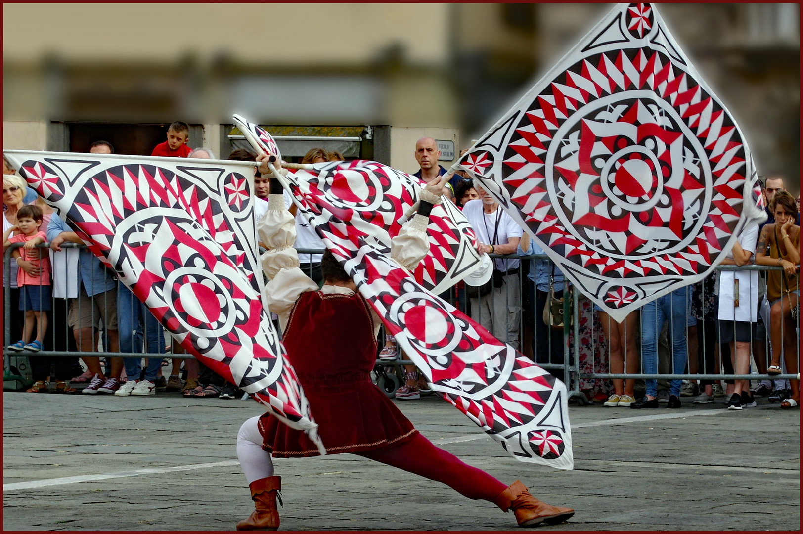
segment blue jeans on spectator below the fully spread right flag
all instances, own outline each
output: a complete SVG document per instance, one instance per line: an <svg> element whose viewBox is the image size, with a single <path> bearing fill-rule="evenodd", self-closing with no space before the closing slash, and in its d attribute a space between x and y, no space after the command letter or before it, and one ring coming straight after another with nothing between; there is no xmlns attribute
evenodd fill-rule
<svg viewBox="0 0 803 534"><path fill-rule="evenodd" d="M679 287L669 295L644 304L642 307L642 366L645 374L658 373L658 334L664 321L669 321L672 353L671 373L683 373L687 359L687 317L691 315L691 286ZM680 396L683 381L670 381L670 394ZM645 380L646 394L655 397L658 381Z"/></svg>

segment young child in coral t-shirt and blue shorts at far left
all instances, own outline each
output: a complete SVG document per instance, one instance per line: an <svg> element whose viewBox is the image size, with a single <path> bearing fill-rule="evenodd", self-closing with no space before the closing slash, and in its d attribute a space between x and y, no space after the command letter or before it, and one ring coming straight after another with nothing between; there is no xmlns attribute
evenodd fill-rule
<svg viewBox="0 0 803 534"><path fill-rule="evenodd" d="M22 258L39 267L39 275L31 276L22 269L17 271L19 286L19 310L25 312L25 327L22 340L8 346L9 350L39 352L47 331L47 313L51 309L51 265L47 250L37 249L36 245L45 243L47 235L39 230L42 226L42 208L34 205L22 206L17 212L17 224L3 233L3 250L11 243L25 243L22 246ZM10 237L11 232L18 234ZM31 340L36 328L35 340Z"/></svg>

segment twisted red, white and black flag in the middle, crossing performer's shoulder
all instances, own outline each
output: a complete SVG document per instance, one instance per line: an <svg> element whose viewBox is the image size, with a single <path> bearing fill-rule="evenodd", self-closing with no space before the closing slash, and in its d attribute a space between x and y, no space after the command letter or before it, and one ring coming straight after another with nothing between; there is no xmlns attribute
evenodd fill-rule
<svg viewBox="0 0 803 534"><path fill-rule="evenodd" d="M240 129L270 153L263 128ZM391 258L390 239L424 182L376 161L318 163L279 179L432 389L516 459L573 468L565 385L434 295L479 263L459 210L433 208L429 254L410 273Z"/></svg>

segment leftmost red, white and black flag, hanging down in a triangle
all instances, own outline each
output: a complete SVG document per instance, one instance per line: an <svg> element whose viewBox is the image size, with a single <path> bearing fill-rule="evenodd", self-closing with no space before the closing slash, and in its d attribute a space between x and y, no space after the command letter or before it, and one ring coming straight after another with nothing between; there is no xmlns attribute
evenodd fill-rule
<svg viewBox="0 0 803 534"><path fill-rule="evenodd" d="M252 163L4 155L188 353L320 441L260 297Z"/></svg>

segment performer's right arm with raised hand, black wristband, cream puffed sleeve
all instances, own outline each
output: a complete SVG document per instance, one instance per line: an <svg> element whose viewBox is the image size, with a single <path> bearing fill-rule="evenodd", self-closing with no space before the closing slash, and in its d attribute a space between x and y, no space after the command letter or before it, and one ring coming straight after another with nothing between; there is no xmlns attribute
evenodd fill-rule
<svg viewBox="0 0 803 534"><path fill-rule="evenodd" d="M430 181L421 190L418 213L405 223L402 230L391 241L390 255L408 271L413 271L430 251L430 242L426 238L426 226L430 223L430 210L440 202L450 177L450 174L443 174Z"/></svg>

